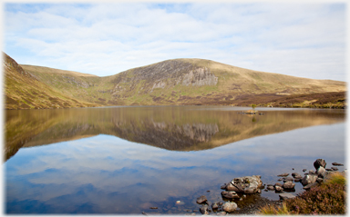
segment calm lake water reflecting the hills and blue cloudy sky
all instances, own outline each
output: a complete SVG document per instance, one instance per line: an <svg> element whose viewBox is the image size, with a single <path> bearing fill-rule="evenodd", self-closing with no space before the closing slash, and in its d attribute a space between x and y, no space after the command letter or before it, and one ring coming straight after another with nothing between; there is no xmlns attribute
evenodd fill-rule
<svg viewBox="0 0 350 217"><path fill-rule="evenodd" d="M248 109L6 111L5 213L189 213L201 195L222 201L221 184L235 177L275 183L317 158L345 163L344 110L238 113ZM237 203L260 196L278 199L262 191Z"/></svg>

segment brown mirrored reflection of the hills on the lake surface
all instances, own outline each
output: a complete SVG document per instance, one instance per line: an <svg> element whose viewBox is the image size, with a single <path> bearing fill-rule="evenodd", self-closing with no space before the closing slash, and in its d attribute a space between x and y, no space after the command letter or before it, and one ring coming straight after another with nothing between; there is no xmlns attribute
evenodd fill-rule
<svg viewBox="0 0 350 217"><path fill-rule="evenodd" d="M6 111L5 159L21 147L118 136L173 151L199 151L258 135L343 122L342 110L262 109L215 106L107 107Z"/></svg>

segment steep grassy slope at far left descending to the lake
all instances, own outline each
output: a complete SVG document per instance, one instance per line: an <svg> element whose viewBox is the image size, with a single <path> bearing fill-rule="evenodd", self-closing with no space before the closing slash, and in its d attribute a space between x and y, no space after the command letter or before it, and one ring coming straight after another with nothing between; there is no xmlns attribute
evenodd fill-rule
<svg viewBox="0 0 350 217"><path fill-rule="evenodd" d="M5 74L5 109L71 108L98 106L77 100L26 72L15 60L3 54Z"/></svg>

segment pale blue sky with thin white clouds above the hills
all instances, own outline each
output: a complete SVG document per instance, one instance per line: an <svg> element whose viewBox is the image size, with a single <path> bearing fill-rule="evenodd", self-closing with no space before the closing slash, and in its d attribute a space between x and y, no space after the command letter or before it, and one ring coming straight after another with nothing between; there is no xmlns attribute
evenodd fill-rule
<svg viewBox="0 0 350 217"><path fill-rule="evenodd" d="M18 64L108 76L175 58L346 81L345 2L97 2L3 5Z"/></svg>

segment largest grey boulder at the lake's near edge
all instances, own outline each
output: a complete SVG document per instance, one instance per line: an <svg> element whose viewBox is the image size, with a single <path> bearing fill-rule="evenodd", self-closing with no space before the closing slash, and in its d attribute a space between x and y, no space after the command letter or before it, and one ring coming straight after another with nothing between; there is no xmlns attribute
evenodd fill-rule
<svg viewBox="0 0 350 217"><path fill-rule="evenodd" d="M237 188L235 192L255 193L262 187L261 177L260 175L243 176L234 178L231 183Z"/></svg>

